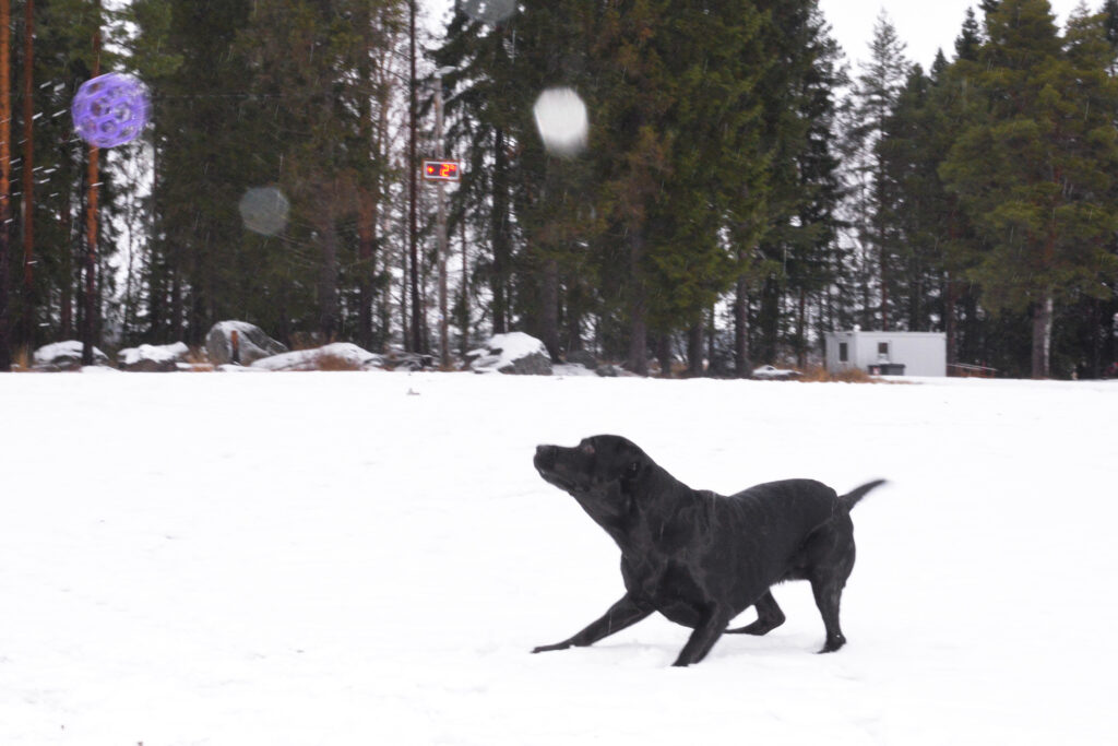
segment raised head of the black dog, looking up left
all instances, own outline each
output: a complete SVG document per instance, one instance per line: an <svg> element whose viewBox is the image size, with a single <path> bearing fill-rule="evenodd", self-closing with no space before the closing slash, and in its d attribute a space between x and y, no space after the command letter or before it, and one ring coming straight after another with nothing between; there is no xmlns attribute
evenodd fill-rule
<svg viewBox="0 0 1118 746"><path fill-rule="evenodd" d="M540 476L578 500L590 518L614 530L632 512L637 484L652 460L619 435L595 435L572 448L537 446L532 463Z"/></svg>

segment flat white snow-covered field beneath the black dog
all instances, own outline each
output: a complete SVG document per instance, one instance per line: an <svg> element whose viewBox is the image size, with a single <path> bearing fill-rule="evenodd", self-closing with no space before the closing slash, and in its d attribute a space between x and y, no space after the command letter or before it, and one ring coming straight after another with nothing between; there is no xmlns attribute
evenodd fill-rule
<svg viewBox="0 0 1118 746"><path fill-rule="evenodd" d="M601 432L723 493L888 478L846 648L800 583L697 667L659 616L529 654L623 592L531 465ZM1116 433L1106 383L0 376L0 744L1112 744Z"/></svg>

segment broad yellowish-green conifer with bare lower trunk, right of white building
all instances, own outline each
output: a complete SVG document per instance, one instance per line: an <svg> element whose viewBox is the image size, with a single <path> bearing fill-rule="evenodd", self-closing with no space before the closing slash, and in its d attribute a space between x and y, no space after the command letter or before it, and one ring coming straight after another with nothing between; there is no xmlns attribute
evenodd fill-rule
<svg viewBox="0 0 1118 746"><path fill-rule="evenodd" d="M941 173L988 243L973 271L985 303L1031 318L1040 378L1055 305L1101 292L1114 267L1114 81L1101 17L1077 16L1061 40L1046 0L1004 0L987 31L975 76L986 110Z"/></svg>

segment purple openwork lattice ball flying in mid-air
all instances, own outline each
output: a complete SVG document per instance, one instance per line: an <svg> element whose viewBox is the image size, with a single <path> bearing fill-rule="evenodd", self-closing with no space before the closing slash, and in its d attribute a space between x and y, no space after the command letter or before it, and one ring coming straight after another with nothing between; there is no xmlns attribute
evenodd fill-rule
<svg viewBox="0 0 1118 746"><path fill-rule="evenodd" d="M77 89L70 113L74 129L91 145L114 148L140 136L151 104L148 87L124 73L106 73Z"/></svg>

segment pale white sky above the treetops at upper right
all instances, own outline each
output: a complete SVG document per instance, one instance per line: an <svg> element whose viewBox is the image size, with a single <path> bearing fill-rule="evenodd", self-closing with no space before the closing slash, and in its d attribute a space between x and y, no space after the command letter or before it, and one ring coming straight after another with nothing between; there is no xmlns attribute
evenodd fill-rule
<svg viewBox="0 0 1118 746"><path fill-rule="evenodd" d="M1068 15L1080 0L1049 0L1057 17L1057 25L1063 28ZM868 45L873 36L873 25L882 9L897 28L897 35L908 45L910 62L920 63L927 70L936 58L936 50L942 48L950 59L955 56L955 39L963 28L967 8L974 8L978 22L982 11L978 0L819 0L823 13L833 27L832 36L846 51L852 63L869 56ZM1102 0L1090 0L1087 7L1095 10L1102 7Z"/></svg>

